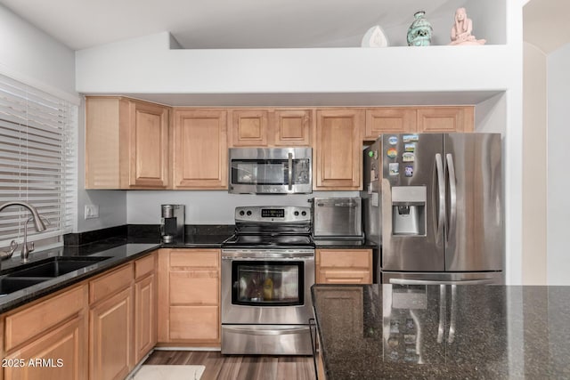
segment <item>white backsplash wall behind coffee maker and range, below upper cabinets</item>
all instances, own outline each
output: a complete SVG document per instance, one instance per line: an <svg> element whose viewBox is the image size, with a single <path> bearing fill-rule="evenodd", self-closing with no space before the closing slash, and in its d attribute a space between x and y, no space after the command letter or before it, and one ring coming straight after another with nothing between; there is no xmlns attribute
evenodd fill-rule
<svg viewBox="0 0 570 380"><path fill-rule="evenodd" d="M311 206L309 198L358 197L358 191L315 191L312 194L250 195L217 191L129 191L129 224L159 224L160 205L184 205L186 224L233 224L237 206Z"/></svg>

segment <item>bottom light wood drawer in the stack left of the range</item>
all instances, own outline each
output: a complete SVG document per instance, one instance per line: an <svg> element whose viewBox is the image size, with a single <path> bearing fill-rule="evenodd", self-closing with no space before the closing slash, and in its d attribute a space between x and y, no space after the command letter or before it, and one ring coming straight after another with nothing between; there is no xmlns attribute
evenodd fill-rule
<svg viewBox="0 0 570 380"><path fill-rule="evenodd" d="M219 339L217 306L171 306L170 339Z"/></svg>

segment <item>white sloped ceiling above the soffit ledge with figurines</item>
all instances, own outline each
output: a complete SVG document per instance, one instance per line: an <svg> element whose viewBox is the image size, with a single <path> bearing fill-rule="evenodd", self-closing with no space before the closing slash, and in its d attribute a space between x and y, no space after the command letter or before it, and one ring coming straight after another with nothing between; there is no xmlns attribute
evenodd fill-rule
<svg viewBox="0 0 570 380"><path fill-rule="evenodd" d="M187 49L360 46L362 36L374 25L385 30L405 26L406 30L420 9L432 18L449 19L450 9L465 2L0 0L73 50L163 31Z"/></svg>

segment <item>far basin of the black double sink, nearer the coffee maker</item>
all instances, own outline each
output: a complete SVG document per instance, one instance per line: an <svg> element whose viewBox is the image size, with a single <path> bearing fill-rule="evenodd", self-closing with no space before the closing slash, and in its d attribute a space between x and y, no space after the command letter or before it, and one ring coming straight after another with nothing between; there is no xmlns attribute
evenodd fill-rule
<svg viewBox="0 0 570 380"><path fill-rule="evenodd" d="M12 271L6 275L6 278L54 278L70 271L77 271L94 263L106 260L109 257L69 257L56 256L42 260L37 263L26 265L26 268L19 271Z"/></svg>

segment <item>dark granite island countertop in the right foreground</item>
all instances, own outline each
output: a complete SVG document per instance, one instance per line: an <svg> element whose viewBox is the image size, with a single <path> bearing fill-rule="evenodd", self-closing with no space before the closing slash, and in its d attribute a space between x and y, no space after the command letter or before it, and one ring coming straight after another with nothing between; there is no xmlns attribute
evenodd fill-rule
<svg viewBox="0 0 570 380"><path fill-rule="evenodd" d="M312 288L327 380L570 378L570 287Z"/></svg>

